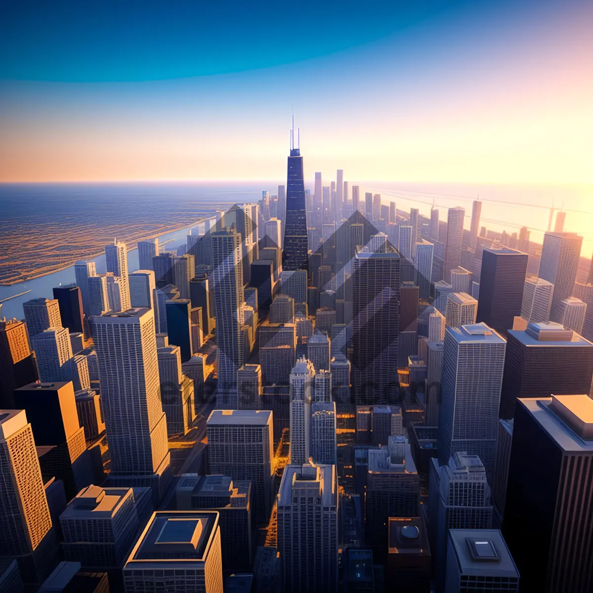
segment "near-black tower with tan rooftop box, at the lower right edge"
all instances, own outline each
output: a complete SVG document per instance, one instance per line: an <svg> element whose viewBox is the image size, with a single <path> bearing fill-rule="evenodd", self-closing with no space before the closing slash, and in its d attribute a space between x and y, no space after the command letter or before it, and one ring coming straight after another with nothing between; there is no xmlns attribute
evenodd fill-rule
<svg viewBox="0 0 593 593"><path fill-rule="evenodd" d="M586 395L517 402L502 533L522 590L591 589L592 417Z"/></svg>

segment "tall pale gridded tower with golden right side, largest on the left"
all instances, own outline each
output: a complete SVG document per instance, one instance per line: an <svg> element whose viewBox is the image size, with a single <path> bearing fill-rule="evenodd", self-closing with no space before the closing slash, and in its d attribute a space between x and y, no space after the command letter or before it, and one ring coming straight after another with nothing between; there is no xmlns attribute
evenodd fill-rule
<svg viewBox="0 0 593 593"><path fill-rule="evenodd" d="M162 411L154 311L135 308L93 318L111 474L152 486L155 499L170 461ZM132 480L145 480L133 484Z"/></svg>

